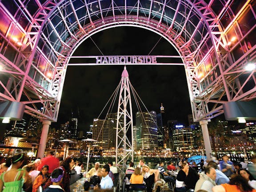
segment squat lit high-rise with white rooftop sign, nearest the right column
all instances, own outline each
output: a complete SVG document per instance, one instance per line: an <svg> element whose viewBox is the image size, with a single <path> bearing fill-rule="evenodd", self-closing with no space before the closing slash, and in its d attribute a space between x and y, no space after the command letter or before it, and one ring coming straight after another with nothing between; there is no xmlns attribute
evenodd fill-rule
<svg viewBox="0 0 256 192"><path fill-rule="evenodd" d="M176 150L188 151L194 149L194 135L191 128L176 125L173 131L173 142Z"/></svg>

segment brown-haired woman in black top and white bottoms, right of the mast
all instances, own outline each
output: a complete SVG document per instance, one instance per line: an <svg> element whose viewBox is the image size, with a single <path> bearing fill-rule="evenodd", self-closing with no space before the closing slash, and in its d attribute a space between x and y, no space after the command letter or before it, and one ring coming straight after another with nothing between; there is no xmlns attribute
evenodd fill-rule
<svg viewBox="0 0 256 192"><path fill-rule="evenodd" d="M178 175L176 177L176 191L186 192L185 180L186 180L186 177L188 176L189 166L187 163L182 163L180 166L181 166L181 169L178 172Z"/></svg>

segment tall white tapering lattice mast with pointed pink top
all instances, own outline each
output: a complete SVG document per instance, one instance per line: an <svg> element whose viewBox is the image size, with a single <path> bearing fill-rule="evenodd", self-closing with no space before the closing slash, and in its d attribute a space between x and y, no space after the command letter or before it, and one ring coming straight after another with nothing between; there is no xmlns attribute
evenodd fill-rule
<svg viewBox="0 0 256 192"><path fill-rule="evenodd" d="M132 156L133 162L133 122L132 122L132 101L130 93L129 75L124 66L122 72L120 95L118 101L117 120L116 120L116 165L122 165L123 170L126 161ZM131 131L131 139L128 139L127 133ZM118 151L123 152L121 160L118 161Z"/></svg>

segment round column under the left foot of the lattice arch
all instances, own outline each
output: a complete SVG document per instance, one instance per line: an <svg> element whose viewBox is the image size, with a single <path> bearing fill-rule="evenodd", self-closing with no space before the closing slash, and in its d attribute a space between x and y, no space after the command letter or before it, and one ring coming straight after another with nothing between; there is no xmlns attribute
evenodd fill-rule
<svg viewBox="0 0 256 192"><path fill-rule="evenodd" d="M37 157L43 158L44 157L44 150L45 150L45 146L46 146L46 142L47 142L47 136L48 136L48 130L49 130L49 125L52 122L49 120L44 120L42 122L43 124L43 130L42 130L42 134L41 134L41 139L40 139L40 144L39 144L39 148L38 148L38 153L37 153Z"/></svg>

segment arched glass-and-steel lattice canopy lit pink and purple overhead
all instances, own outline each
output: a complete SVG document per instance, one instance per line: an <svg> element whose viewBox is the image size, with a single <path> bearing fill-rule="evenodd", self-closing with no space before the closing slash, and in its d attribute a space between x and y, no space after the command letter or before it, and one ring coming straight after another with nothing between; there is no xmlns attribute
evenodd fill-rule
<svg viewBox="0 0 256 192"><path fill-rule="evenodd" d="M255 98L255 70L244 69L256 60L255 7L255 0L2 0L0 100L56 121L79 44L106 28L136 26L176 48L194 120L211 119L225 102Z"/></svg>

